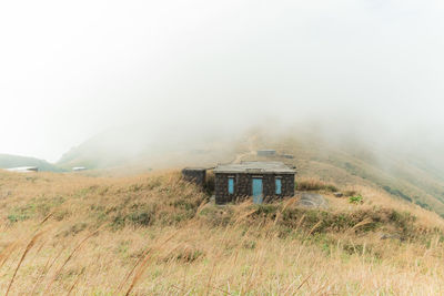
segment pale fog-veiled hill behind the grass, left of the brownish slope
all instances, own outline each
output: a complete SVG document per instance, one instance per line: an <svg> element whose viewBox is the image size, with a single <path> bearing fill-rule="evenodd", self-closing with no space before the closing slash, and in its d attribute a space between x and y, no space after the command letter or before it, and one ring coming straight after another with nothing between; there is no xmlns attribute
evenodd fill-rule
<svg viewBox="0 0 444 296"><path fill-rule="evenodd" d="M169 129L164 129L169 130ZM234 141L220 133L192 135L174 129L150 130L122 126L99 133L62 155L58 166L70 170L113 167L181 167L199 163L213 165L235 155ZM221 149L223 147L223 149Z"/></svg>

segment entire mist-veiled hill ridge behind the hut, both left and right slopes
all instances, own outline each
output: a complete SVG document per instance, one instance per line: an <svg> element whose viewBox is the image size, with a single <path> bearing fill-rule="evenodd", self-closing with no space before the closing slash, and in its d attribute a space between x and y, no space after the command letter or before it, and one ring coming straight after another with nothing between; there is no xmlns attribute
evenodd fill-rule
<svg viewBox="0 0 444 296"><path fill-rule="evenodd" d="M329 141L319 131L293 129L276 134L254 130L234 140L211 137L208 141L139 141L119 136L127 130L112 131L93 137L67 153L61 167L120 167L128 172L151 169L208 166L233 160L278 160L297 166L300 176L317 177L341 186L370 186L389 193L393 198L416 204L444 215L444 170L398 150L381 150L371 143L342 136ZM132 137L143 133L132 132ZM234 135L233 135L234 136ZM120 141L119 139L125 139ZM119 141L118 141L119 140ZM142 144L144 143L144 144ZM175 143L175 144L173 144ZM258 149L275 149L294 159L258 159Z"/></svg>

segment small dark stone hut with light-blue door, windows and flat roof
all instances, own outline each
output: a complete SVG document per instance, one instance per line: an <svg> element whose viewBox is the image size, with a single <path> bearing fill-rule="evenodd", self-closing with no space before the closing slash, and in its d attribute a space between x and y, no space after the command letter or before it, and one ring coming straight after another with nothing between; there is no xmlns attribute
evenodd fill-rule
<svg viewBox="0 0 444 296"><path fill-rule="evenodd" d="M214 169L215 203L225 204L246 196L253 203L294 195L295 170L281 162L242 162Z"/></svg>

